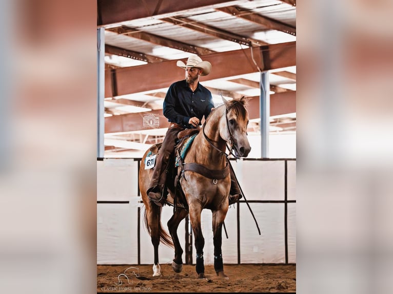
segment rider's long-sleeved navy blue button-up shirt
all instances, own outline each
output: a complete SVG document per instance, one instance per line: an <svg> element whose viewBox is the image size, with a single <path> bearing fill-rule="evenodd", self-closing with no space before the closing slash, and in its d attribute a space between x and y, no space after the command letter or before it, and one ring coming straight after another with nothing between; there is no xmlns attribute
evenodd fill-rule
<svg viewBox="0 0 393 294"><path fill-rule="evenodd" d="M194 129L188 121L191 117L198 117L200 125L202 117L205 119L214 107L211 93L198 82L194 92L188 87L186 80L180 80L170 85L164 99L164 115L168 121L179 123L186 129Z"/></svg>

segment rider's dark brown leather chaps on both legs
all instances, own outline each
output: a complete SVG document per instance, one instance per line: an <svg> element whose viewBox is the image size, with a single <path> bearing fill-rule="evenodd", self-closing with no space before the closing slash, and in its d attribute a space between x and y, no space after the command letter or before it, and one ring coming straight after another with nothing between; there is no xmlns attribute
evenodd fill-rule
<svg viewBox="0 0 393 294"><path fill-rule="evenodd" d="M176 141L178 140L178 134L183 130L184 129L179 124L175 124L175 123L170 124L170 127L168 128L164 141L161 145L160 153L155 161L155 167L153 170L153 175L151 176L149 188L147 190L147 195L149 195L149 192L153 190L154 192L163 191L163 188L165 186L165 181L167 179L169 159L172 156L172 154L174 154L174 146L176 145ZM232 169L230 169L230 177L231 177L231 187L230 187L229 194L242 195L239 184L235 180L235 176L233 174Z"/></svg>

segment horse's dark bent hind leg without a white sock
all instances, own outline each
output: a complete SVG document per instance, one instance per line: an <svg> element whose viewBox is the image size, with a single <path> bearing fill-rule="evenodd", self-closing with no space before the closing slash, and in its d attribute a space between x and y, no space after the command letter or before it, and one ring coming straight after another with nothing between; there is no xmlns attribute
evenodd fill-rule
<svg viewBox="0 0 393 294"><path fill-rule="evenodd" d="M179 242L178 227L180 222L188 215L185 209L176 209L173 216L168 221L169 233L172 236L174 245L174 259L172 262L172 269L175 272L181 272L183 270L183 249Z"/></svg>

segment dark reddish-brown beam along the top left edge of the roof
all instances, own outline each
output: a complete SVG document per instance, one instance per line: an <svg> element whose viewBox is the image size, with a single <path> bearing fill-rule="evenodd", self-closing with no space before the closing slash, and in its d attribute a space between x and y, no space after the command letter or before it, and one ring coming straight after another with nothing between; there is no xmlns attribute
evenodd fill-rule
<svg viewBox="0 0 393 294"><path fill-rule="evenodd" d="M230 5L248 2L232 1ZM97 0L97 25L112 26L133 19L152 18L154 15L164 17L191 9L208 9L228 6L228 0Z"/></svg>

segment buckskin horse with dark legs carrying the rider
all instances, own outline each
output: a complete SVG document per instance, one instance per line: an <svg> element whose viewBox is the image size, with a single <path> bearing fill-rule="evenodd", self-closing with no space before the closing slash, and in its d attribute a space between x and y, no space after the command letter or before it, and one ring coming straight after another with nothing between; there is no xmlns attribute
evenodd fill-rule
<svg viewBox="0 0 393 294"><path fill-rule="evenodd" d="M147 196L152 169L145 169L145 160L149 153L147 150L142 157L139 186L142 200L145 205L145 225L151 236L154 247L153 277L161 276L159 264L160 240L173 248L174 259L172 269L181 272L183 269L183 249L179 242L177 229L179 223L189 215L192 232L195 236L195 249L197 251L195 270L198 278L205 278L203 261L203 248L205 240L201 228L202 209L210 209L212 212L213 244L214 244L214 270L218 277L228 279L224 274L222 259L222 226L228 211L228 195L230 190L230 163L225 153L227 143L230 153L235 157L247 157L251 147L247 138L247 125L249 121L248 112L245 108L246 98L232 99L227 101L224 97L223 104L214 108L201 128L202 130L194 137L189 151L184 157L184 164L178 167L177 174L183 192L184 207L188 209L174 209L173 216L169 219L167 226L170 237L162 227L161 206L150 201ZM184 169L184 166L199 165L202 170L213 174L222 174L222 177L209 177L200 170ZM172 189L173 189L172 185ZM167 201L173 204L175 191L169 188ZM187 211L188 210L188 211Z"/></svg>

